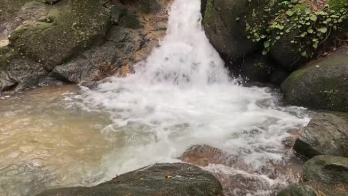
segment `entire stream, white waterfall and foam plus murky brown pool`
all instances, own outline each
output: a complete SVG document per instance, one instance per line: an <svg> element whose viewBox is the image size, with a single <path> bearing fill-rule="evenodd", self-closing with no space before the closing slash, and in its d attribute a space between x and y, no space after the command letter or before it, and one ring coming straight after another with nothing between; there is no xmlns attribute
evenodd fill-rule
<svg viewBox="0 0 348 196"><path fill-rule="evenodd" d="M260 171L270 163L298 164L282 141L310 114L282 106L276 90L244 87L228 76L202 30L200 0L173 2L160 47L135 70L93 89L45 87L0 97L0 195L96 185L148 164L181 161L186 149L202 144L252 168L204 167L226 195L271 195L289 183L282 173L270 178ZM236 174L257 186L239 190L229 179Z"/></svg>

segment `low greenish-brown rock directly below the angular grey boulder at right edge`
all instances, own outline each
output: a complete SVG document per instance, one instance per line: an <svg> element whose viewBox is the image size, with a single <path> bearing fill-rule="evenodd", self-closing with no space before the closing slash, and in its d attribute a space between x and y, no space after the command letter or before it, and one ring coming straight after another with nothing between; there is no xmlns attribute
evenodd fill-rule
<svg viewBox="0 0 348 196"><path fill-rule="evenodd" d="M304 165L304 181L346 186L348 188L348 158L320 155Z"/></svg>

